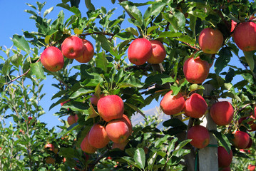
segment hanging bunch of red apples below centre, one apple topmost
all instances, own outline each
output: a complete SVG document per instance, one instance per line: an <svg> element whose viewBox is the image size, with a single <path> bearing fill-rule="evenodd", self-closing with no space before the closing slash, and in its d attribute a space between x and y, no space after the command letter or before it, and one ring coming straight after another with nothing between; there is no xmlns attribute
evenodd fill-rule
<svg viewBox="0 0 256 171"><path fill-rule="evenodd" d="M86 137L81 142L81 150L87 153L94 153L97 149L106 147L108 142L113 142L113 148L124 149L128 137L132 133L130 119L124 113L123 100L118 95L95 95L91 103L97 106L98 114L103 123L95 123Z"/></svg>

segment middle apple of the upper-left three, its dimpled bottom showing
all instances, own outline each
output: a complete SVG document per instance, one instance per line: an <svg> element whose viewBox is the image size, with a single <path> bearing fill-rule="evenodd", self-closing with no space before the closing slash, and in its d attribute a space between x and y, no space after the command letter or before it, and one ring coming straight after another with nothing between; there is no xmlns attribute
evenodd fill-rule
<svg viewBox="0 0 256 171"><path fill-rule="evenodd" d="M85 48L83 41L77 36L69 36L68 38L65 38L61 44L63 56L71 59L82 56Z"/></svg>

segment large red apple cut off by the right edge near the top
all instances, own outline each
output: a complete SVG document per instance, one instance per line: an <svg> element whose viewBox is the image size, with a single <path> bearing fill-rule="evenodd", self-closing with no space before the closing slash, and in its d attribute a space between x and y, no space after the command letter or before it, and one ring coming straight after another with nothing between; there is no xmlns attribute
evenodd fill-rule
<svg viewBox="0 0 256 171"><path fill-rule="evenodd" d="M242 51L256 50L256 24L252 21L237 25L234 31L234 41Z"/></svg>

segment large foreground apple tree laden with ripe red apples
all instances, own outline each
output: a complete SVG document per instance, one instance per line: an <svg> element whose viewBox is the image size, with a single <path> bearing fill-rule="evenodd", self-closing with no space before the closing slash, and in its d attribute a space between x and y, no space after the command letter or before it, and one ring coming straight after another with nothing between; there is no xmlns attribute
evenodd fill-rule
<svg viewBox="0 0 256 171"><path fill-rule="evenodd" d="M1 88L8 93L24 78L56 80L50 109L61 104L56 115L72 116L58 136L76 138L58 152L66 159L61 169L255 165L255 3L106 3L110 9L63 0L56 19L46 18L53 8L43 12L45 3L28 4L37 30L14 35L14 55L1 64ZM143 108L155 102L159 112L146 116ZM170 118L162 122L160 113ZM133 115L145 123L132 125Z"/></svg>

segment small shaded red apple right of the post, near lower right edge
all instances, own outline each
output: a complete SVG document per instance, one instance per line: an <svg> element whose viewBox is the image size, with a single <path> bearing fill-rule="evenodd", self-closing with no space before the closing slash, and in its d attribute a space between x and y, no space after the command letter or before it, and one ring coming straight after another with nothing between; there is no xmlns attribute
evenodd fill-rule
<svg viewBox="0 0 256 171"><path fill-rule="evenodd" d="M244 149L249 145L250 136L240 130L237 130L234 135L233 143L238 149Z"/></svg>

